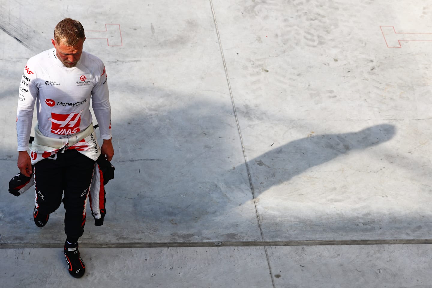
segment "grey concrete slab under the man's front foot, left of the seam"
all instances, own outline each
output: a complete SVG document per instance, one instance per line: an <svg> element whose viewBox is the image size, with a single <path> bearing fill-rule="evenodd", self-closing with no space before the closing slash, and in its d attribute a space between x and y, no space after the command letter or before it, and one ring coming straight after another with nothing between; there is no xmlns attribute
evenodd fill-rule
<svg viewBox="0 0 432 288"><path fill-rule="evenodd" d="M38 287L272 287L262 247L80 249L88 259L81 279L62 277L63 265L47 271L45 265L32 267L29 261L32 255L43 255L44 263L63 262L57 252L6 249L9 265L28 271L28 276L3 267L2 262L1 268L8 271L3 287L32 286L34 279L41 278L45 281ZM105 272L100 271L101 264Z"/></svg>

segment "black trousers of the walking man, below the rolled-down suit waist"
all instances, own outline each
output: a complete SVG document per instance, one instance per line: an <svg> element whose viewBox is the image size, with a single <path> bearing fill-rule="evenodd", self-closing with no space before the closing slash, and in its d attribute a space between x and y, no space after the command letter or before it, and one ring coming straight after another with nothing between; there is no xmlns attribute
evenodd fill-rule
<svg viewBox="0 0 432 288"><path fill-rule="evenodd" d="M95 161L75 149L60 150L34 165L35 205L39 213L57 210L64 193L64 232L68 240L78 241L83 235L94 165Z"/></svg>

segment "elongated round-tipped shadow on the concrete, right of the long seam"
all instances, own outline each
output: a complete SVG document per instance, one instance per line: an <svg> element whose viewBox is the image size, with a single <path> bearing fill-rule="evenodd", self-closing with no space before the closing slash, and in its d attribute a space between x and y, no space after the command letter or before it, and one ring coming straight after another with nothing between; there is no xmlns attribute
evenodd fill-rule
<svg viewBox="0 0 432 288"><path fill-rule="evenodd" d="M247 163L254 196L340 155L387 142L395 131L393 125L380 124L358 132L312 135L266 152Z"/></svg>

